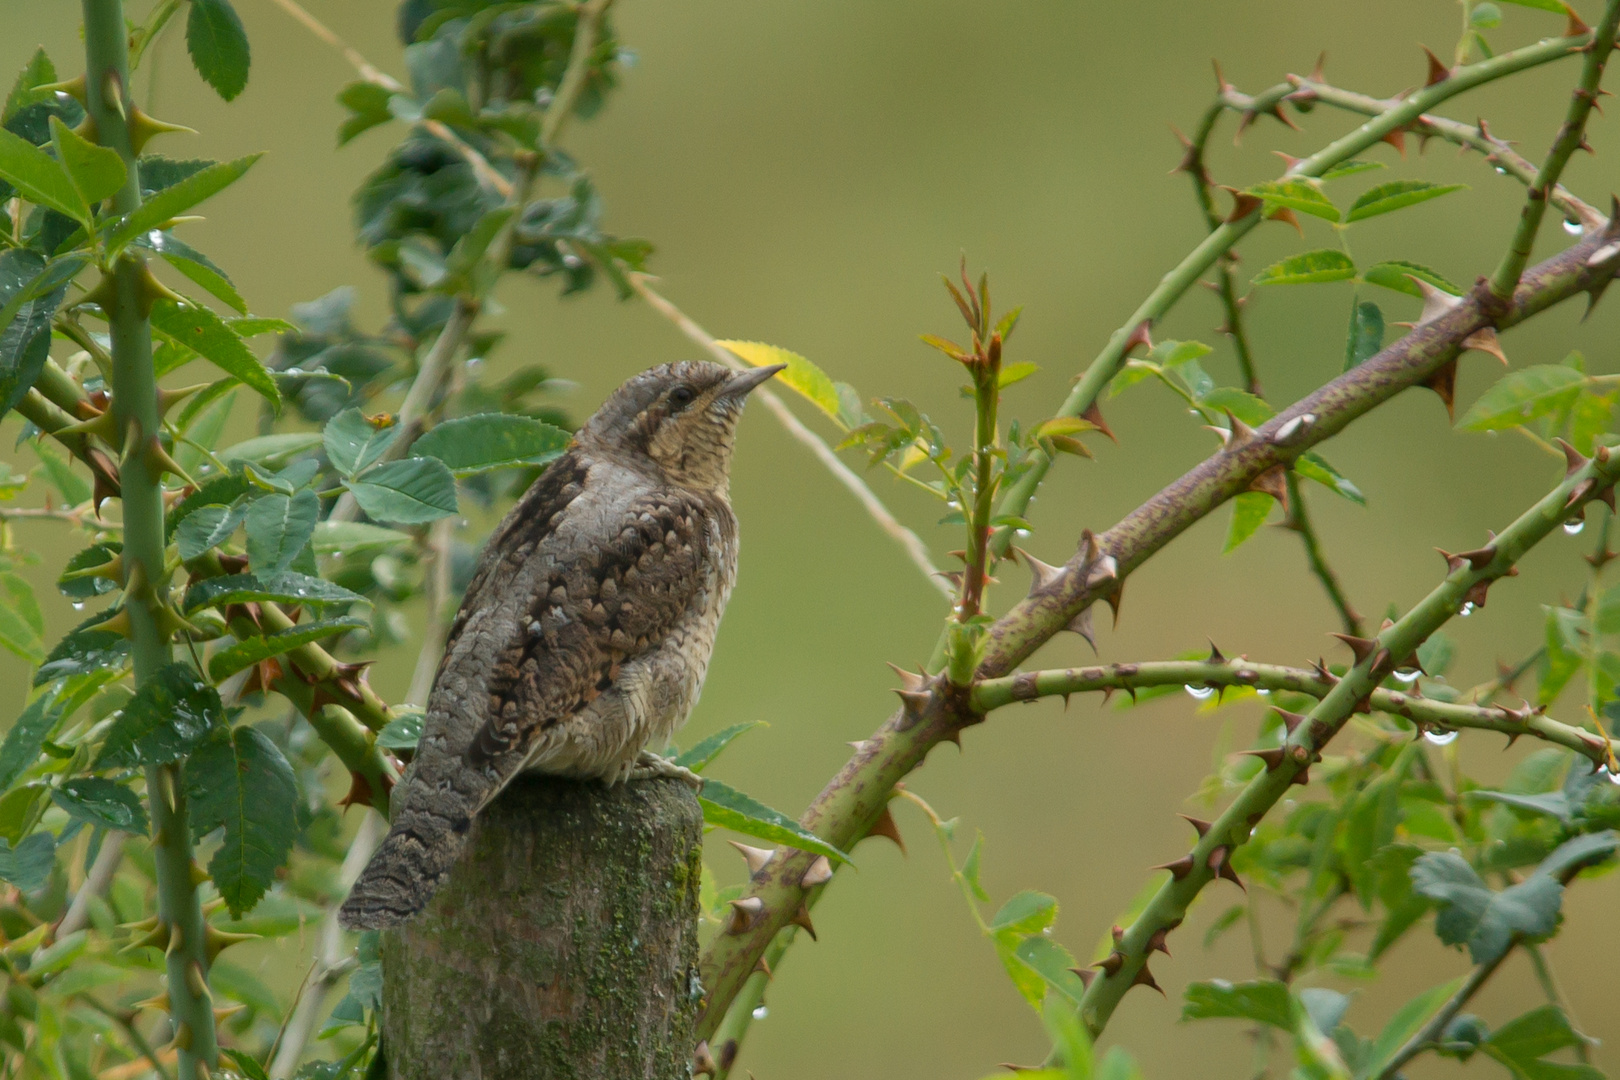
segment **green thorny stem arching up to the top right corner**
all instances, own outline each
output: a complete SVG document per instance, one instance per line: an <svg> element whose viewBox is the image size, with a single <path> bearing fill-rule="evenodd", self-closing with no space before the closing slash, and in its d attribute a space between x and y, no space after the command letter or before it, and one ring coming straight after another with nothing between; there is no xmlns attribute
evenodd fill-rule
<svg viewBox="0 0 1620 1080"><path fill-rule="evenodd" d="M1430 107L1439 105L1456 94L1474 89L1476 86L1484 86L1486 83L1492 83L1503 76L1515 74L1552 60L1562 60L1563 57L1568 57L1584 47L1591 42L1591 39L1592 36L1589 32L1576 34L1573 37L1554 37L1534 45L1500 53L1490 60L1482 60L1481 63L1469 65L1466 68L1458 68L1452 73L1452 78L1435 83L1434 86L1422 87L1393 108L1379 113L1349 134L1294 164L1290 167L1286 175L1320 176L1330 167L1354 157L1369 146L1375 146L1392 131L1406 128L1409 123L1422 117ZM1283 97L1293 92L1293 89L1294 87L1291 84L1285 83L1283 86L1273 86L1264 94L1257 94L1251 100L1257 110L1265 112L1280 104ZM1181 300L1183 293L1186 293L1186 290L1191 288L1192 283L1197 282L1218 257L1236 246L1236 243L1259 223L1259 207L1251 210L1243 219L1223 222L1220 228L1205 236L1197 248L1194 248L1173 270L1170 270L1153 291L1149 293L1147 300L1144 300L1137 309L1131 313L1131 317L1113 332L1113 337L1108 338L1108 345L1103 347L1103 350L1090 363L1085 374L1081 376L1079 382L1069 392L1069 397L1064 398L1063 405L1058 408L1058 416L1079 416L1085 410L1092 408L1102 392L1124 366L1124 355L1136 327L1144 321L1152 324L1162 319L1165 313L1168 313L1174 303ZM1001 513L1022 517L1030 495L1034 495L1035 489L1040 487L1048 468L1051 468L1051 460L1045 453L1032 453L1030 470L1008 489L1001 500ZM1008 544L1011 544L1011 529L1000 529L995 542L996 554L1004 554Z"/></svg>

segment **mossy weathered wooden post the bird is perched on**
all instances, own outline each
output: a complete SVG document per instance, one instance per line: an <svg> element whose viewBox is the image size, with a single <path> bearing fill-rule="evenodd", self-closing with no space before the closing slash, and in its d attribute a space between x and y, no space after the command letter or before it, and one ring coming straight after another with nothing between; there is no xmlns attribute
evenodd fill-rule
<svg viewBox="0 0 1620 1080"><path fill-rule="evenodd" d="M382 936L392 1080L685 1080L703 814L679 780L522 777Z"/></svg>

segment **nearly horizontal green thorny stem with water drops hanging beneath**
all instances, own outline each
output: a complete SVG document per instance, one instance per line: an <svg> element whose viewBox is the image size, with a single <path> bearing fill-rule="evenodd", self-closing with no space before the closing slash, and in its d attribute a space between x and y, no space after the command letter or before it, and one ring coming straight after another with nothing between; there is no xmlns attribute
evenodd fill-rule
<svg viewBox="0 0 1620 1080"><path fill-rule="evenodd" d="M1115 693L1150 687L1251 687L1283 693L1325 698L1338 678L1309 667L1251 664L1249 661L1149 661L1145 664L1103 664L1095 667L1058 667L1019 672L974 683L974 708L990 712L1016 701L1068 696L1071 693ZM1377 688L1367 698L1377 712L1401 716L1413 724L1497 732L1508 738L1526 735L1555 746L1565 746L1592 764L1607 761L1607 743L1591 732L1560 724L1534 711L1513 711L1494 704L1458 704L1424 698L1406 690Z"/></svg>

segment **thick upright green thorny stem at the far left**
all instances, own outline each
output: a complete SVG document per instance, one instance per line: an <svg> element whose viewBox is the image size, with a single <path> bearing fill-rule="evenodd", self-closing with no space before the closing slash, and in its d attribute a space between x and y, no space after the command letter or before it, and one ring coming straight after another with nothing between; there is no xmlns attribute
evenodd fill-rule
<svg viewBox="0 0 1620 1080"><path fill-rule="evenodd" d="M128 214L141 204L141 176L130 144L128 39L122 0L84 0L84 81L91 120L102 146L118 152L128 172L112 209ZM130 614L136 687L172 659L168 572L164 565L162 471L151 453L160 431L152 334L152 291L138 251L126 251L105 270L102 309L112 335L113 419L123 432L120 463L123 500L125 609ZM186 818L180 766L146 771L152 810L152 857L157 868L157 913L170 928L165 968L170 1017L180 1051L180 1080L206 1077L219 1059L214 1010L207 993L202 907L191 876L191 824Z"/></svg>

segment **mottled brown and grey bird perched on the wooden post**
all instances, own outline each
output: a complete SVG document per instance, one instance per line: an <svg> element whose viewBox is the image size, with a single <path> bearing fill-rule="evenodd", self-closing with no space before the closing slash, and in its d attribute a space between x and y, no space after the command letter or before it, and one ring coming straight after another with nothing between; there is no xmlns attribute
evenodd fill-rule
<svg viewBox="0 0 1620 1080"><path fill-rule="evenodd" d="M701 779L659 756L697 704L737 576L729 478L748 392L782 364L630 377L491 534L446 635L392 823L339 918L421 912L517 776Z"/></svg>

